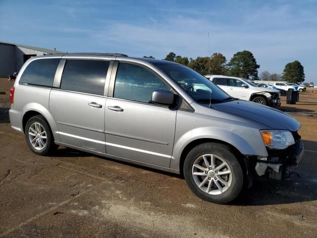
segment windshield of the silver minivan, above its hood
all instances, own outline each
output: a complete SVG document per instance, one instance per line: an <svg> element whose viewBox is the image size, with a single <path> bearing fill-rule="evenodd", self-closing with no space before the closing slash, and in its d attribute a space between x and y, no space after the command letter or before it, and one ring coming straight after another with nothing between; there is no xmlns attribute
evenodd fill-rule
<svg viewBox="0 0 317 238"><path fill-rule="evenodd" d="M173 63L154 64L174 79L199 103L211 104L232 100L214 83L189 67Z"/></svg>

